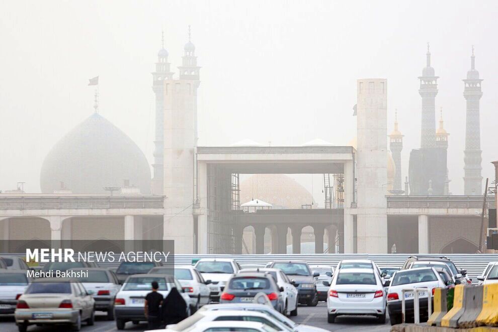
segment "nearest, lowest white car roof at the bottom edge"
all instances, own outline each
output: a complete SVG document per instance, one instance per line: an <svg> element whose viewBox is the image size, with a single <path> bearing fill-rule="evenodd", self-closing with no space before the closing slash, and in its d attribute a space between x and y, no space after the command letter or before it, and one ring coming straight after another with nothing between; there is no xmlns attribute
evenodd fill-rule
<svg viewBox="0 0 498 332"><path fill-rule="evenodd" d="M172 329L154 329L146 332L152 331L174 331ZM212 331L251 331L251 332L275 332L275 328L272 328L264 323L256 321L242 321L242 320L216 320L207 321L203 323L198 323L190 328L185 329L187 332L212 332Z"/></svg>

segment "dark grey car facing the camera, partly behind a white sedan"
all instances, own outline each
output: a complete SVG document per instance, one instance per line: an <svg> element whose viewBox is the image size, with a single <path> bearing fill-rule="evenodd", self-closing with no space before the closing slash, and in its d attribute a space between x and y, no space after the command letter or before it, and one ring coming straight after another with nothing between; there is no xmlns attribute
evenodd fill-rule
<svg viewBox="0 0 498 332"><path fill-rule="evenodd" d="M271 268L282 270L291 279L291 283L297 288L298 302L308 306L318 304L318 293L316 291L315 277L320 273L311 272L308 264L297 260L273 261Z"/></svg>

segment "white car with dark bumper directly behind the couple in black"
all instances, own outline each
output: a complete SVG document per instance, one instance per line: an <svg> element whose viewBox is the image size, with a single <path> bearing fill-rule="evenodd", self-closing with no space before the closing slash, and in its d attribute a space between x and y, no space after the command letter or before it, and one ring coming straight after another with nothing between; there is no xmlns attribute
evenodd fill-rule
<svg viewBox="0 0 498 332"><path fill-rule="evenodd" d="M128 276L123 286L116 294L114 301L114 316L117 329L124 329L127 321L139 323L146 321L144 313L145 296L151 291L152 281L159 284L159 292L166 297L172 288L177 288L187 302L187 315L190 315L190 297L182 290L182 285L172 275L165 274L134 274Z"/></svg>

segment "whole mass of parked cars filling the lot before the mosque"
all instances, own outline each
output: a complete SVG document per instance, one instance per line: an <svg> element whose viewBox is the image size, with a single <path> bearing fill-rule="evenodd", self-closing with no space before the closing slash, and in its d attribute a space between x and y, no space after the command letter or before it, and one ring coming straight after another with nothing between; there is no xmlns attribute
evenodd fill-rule
<svg viewBox="0 0 498 332"><path fill-rule="evenodd" d="M79 278L29 278L29 267L15 257L0 257L0 314L13 314L20 332L30 325L64 324L71 330L93 325L95 311L115 320L116 328L147 322L150 330L319 331L296 324L299 305L326 302L327 321L343 315L367 315L391 325L414 320L419 289L420 321L428 318L428 299L436 289L470 284L466 271L446 257L411 256L402 266L378 266L348 259L337 266L300 260L239 264L230 258L202 258L175 266L123 262L117 269L64 262L42 270L81 270ZM490 262L479 284L498 283L498 262Z"/></svg>

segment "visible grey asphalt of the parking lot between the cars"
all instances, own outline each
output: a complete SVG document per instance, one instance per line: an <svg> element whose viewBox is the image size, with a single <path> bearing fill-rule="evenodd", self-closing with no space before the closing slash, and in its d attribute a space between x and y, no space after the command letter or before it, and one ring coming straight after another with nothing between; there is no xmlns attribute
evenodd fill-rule
<svg viewBox="0 0 498 332"><path fill-rule="evenodd" d="M316 307L300 306L297 317L291 317L292 320L301 324L313 325L316 327L321 327L326 330L331 331L389 331L390 323L389 319L386 320L385 324L377 323L377 319L369 316L339 316L336 319L336 323L327 323L326 315L326 305L325 302L319 302ZM126 323L127 331L143 331L147 329L145 323L140 323L138 325L133 325L132 322ZM0 331L2 332L16 332L17 326L14 323L14 318L9 316L0 317ZM81 328L83 332L85 331L117 331L116 322L105 320L104 313L98 311L95 317L94 326L85 326ZM67 326L35 326L32 325L28 328L28 331L33 332L48 332L48 331L67 331Z"/></svg>

